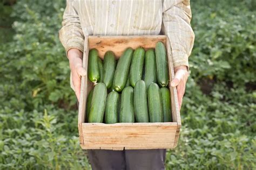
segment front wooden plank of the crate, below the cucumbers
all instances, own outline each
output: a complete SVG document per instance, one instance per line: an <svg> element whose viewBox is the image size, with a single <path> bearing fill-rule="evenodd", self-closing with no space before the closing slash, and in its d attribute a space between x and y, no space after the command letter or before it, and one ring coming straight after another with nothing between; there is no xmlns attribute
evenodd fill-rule
<svg viewBox="0 0 256 170"><path fill-rule="evenodd" d="M177 123L83 123L84 146L172 148Z"/></svg>

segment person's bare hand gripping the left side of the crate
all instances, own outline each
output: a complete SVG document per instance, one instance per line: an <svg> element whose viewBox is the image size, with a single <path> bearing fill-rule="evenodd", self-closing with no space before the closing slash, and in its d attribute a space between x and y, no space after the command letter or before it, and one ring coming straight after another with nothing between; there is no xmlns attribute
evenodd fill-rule
<svg viewBox="0 0 256 170"><path fill-rule="evenodd" d="M69 67L71 69L72 82L75 87L78 102L80 98L81 76L86 75L86 71L82 67L82 57L83 53L79 49L71 48L68 51Z"/></svg>

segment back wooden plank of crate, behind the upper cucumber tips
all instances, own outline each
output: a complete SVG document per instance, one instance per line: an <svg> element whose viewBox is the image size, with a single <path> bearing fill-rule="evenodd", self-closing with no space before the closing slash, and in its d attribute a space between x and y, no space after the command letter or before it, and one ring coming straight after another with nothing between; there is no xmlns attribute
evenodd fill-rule
<svg viewBox="0 0 256 170"><path fill-rule="evenodd" d="M97 48L100 58L105 52L113 51L119 58L127 47L145 49L156 47L158 41L165 44L166 36L89 36L89 48Z"/></svg>

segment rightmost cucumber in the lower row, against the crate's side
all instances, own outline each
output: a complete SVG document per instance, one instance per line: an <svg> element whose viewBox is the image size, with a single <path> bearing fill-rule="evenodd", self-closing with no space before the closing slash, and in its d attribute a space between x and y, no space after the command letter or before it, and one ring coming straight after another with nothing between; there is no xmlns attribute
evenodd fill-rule
<svg viewBox="0 0 256 170"><path fill-rule="evenodd" d="M166 87L160 88L164 122L172 122L171 94Z"/></svg>

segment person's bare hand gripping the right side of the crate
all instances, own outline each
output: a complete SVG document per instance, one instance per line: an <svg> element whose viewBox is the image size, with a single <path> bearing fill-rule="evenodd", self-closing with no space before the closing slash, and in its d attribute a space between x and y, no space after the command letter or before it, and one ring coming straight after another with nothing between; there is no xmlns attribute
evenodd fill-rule
<svg viewBox="0 0 256 170"><path fill-rule="evenodd" d="M187 67L179 66L174 69L175 77L171 82L172 87L177 86L179 109L181 108L182 99L185 93L186 82L188 77Z"/></svg>

